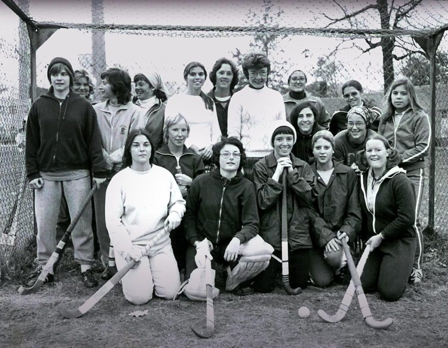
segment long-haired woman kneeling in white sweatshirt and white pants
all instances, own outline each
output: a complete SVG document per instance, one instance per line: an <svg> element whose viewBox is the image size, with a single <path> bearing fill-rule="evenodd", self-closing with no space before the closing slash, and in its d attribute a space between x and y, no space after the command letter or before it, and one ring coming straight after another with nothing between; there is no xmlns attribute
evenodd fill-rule
<svg viewBox="0 0 448 348"><path fill-rule="evenodd" d="M185 200L166 169L153 165L155 149L145 129L129 133L124 145L123 170L106 192L106 226L118 270L131 259L138 264L122 278L124 297L140 305L152 298L173 299L180 286L169 232L179 226ZM145 245L166 233L145 253Z"/></svg>

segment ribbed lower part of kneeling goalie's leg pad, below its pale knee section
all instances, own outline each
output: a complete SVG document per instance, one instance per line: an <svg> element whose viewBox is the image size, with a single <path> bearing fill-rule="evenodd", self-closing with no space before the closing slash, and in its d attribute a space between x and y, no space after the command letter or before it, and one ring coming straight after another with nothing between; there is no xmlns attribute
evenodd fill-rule
<svg viewBox="0 0 448 348"><path fill-rule="evenodd" d="M227 267L225 290L231 291L246 280L252 279L269 265L271 255L242 256L233 269Z"/></svg>

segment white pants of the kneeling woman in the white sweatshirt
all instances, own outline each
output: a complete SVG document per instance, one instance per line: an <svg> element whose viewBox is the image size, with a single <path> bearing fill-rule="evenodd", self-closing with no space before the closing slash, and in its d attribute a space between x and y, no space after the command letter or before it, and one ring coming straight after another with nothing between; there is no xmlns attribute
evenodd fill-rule
<svg viewBox="0 0 448 348"><path fill-rule="evenodd" d="M140 247L144 249L143 245ZM127 263L123 256L115 254L118 271ZM172 300L179 290L180 277L171 244L155 253L149 251L148 255L143 255L138 266L121 278L121 285L124 297L134 305L148 302L153 291L158 297Z"/></svg>

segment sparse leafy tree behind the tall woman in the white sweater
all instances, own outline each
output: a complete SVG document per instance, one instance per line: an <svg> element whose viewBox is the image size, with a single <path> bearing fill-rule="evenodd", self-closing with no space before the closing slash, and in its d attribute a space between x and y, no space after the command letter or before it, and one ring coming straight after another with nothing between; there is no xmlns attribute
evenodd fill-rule
<svg viewBox="0 0 448 348"><path fill-rule="evenodd" d="M276 27L282 19L282 15L285 13L281 8L275 8L275 4L272 0L263 0L262 14L250 9L246 14L247 19L245 23L259 27L259 31L253 36L253 41L249 43L248 51L258 51L266 54L271 62L271 73L268 77L269 87L279 91L280 93L286 93L287 81L285 76L287 75L291 64L289 58L285 57L285 51L279 48L279 44L284 40L290 40L287 34L278 35L269 33L269 28ZM237 65L241 65L244 54L239 48L236 48L232 52L233 59L236 60ZM239 73L239 82L235 87L235 90L239 90L247 84L242 71Z"/></svg>

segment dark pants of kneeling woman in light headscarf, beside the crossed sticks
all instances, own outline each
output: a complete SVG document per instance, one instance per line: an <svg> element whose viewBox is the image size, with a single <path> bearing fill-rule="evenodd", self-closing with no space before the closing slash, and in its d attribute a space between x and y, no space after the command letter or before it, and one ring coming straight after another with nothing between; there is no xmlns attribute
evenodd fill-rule
<svg viewBox="0 0 448 348"><path fill-rule="evenodd" d="M331 251L329 257L324 257L324 248L313 248L310 252L310 276L316 286L324 288L335 279L335 271L341 266L344 250Z"/></svg>

